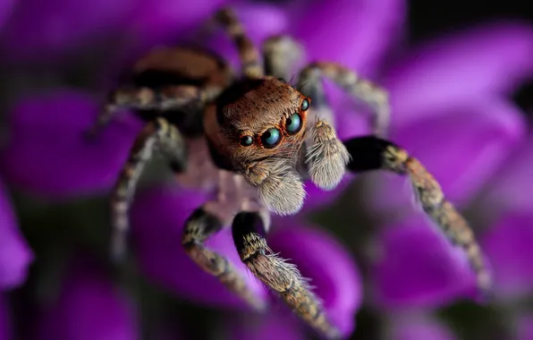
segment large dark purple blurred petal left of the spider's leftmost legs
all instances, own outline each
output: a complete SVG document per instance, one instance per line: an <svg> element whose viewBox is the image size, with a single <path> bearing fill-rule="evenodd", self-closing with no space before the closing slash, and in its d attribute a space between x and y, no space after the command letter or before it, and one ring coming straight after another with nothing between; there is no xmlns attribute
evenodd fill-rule
<svg viewBox="0 0 533 340"><path fill-rule="evenodd" d="M83 133L97 113L96 100L73 90L22 100L9 116L11 140L0 155L6 179L55 199L109 188L140 123L132 116L117 117L97 140L89 141Z"/></svg>

